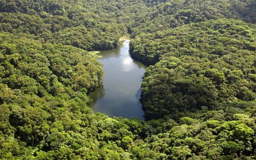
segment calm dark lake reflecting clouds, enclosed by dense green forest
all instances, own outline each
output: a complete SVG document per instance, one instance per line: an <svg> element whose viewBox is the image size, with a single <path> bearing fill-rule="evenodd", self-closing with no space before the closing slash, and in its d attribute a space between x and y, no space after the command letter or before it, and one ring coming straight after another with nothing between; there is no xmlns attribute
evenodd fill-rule
<svg viewBox="0 0 256 160"><path fill-rule="evenodd" d="M103 86L89 94L93 100L89 107L94 113L101 112L109 117L138 117L142 120L144 112L139 98L146 66L130 57L129 40L124 41L124 46L103 51L100 55L103 58L99 61L105 72Z"/></svg>

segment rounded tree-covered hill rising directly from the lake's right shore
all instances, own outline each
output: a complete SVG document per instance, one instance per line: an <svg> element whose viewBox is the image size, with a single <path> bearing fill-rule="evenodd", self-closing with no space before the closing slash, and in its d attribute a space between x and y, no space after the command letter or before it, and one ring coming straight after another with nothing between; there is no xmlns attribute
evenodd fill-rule
<svg viewBox="0 0 256 160"><path fill-rule="evenodd" d="M224 28L225 33L220 32ZM232 35L230 31L236 28L239 32ZM243 34L244 29L250 29L250 36ZM133 43L138 39L144 39L150 46L162 44L157 50L162 54L161 60L147 69L141 85L146 119L170 115L178 120L179 112L203 106L215 109L232 101L255 99L254 82L249 75L255 73L256 56L248 44L254 43L250 38L255 38L256 31L246 23L209 20L166 29L162 33L161 39L151 35L148 40L141 34L131 41L135 47ZM191 41L191 36L196 38ZM170 38L175 39L175 43ZM239 43L223 40L227 38ZM144 40L139 43L144 45Z"/></svg>

